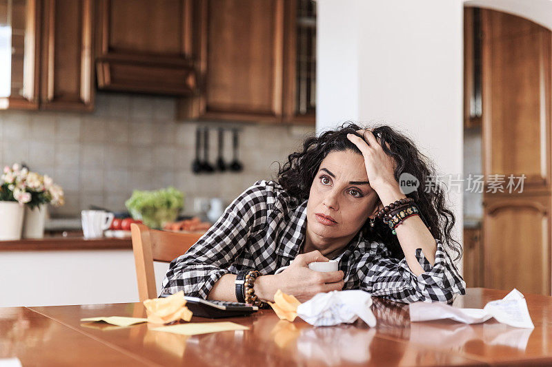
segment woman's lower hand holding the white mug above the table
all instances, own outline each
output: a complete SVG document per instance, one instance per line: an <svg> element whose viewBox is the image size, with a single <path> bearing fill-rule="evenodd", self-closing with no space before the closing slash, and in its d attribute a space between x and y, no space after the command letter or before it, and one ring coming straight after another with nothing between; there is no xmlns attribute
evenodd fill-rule
<svg viewBox="0 0 552 367"><path fill-rule="evenodd" d="M299 302L310 300L314 295L321 292L341 291L344 286L343 271L330 271L322 273L308 269L311 262L326 262L320 251L312 251L297 255L287 269L275 277L275 292L281 289L288 295L295 295ZM272 297L274 294L272 295ZM272 298L270 297L270 298Z"/></svg>

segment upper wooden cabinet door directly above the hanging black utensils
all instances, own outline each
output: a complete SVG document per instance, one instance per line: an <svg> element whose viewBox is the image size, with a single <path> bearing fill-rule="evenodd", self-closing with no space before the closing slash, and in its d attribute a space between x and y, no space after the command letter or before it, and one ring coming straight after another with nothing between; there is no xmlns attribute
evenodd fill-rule
<svg viewBox="0 0 552 367"><path fill-rule="evenodd" d="M184 116L282 120L284 0L201 1L201 93Z"/></svg>

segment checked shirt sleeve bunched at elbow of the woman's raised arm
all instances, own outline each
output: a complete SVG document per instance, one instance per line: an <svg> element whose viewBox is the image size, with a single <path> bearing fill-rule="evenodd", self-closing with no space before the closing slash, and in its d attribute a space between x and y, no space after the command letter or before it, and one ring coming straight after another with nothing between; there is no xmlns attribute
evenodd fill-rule
<svg viewBox="0 0 552 367"><path fill-rule="evenodd" d="M453 295L465 294L466 283L445 251L440 240L437 242L435 264L431 266L422 249L416 250L416 258L424 273L415 275L406 259L388 256L382 247L362 255L357 268L359 286L378 297L399 302L451 302Z"/></svg>

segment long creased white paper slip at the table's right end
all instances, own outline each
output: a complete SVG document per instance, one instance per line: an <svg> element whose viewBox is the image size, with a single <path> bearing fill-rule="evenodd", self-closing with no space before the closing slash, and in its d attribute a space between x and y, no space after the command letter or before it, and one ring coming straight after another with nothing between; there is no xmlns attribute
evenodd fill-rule
<svg viewBox="0 0 552 367"><path fill-rule="evenodd" d="M513 289L502 300L491 301L481 308L454 308L436 302L415 302L409 306L411 322L453 319L464 324L479 324L494 317L497 322L515 328L535 328L522 293Z"/></svg>

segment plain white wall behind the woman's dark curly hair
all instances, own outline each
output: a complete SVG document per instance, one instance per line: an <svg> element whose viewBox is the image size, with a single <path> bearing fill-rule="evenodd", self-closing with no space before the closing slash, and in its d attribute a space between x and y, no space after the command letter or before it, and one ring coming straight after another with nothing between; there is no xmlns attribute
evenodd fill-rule
<svg viewBox="0 0 552 367"><path fill-rule="evenodd" d="M347 118L386 122L414 138L443 174L462 174L463 2L317 4L317 132ZM450 195L457 238L461 194Z"/></svg>

